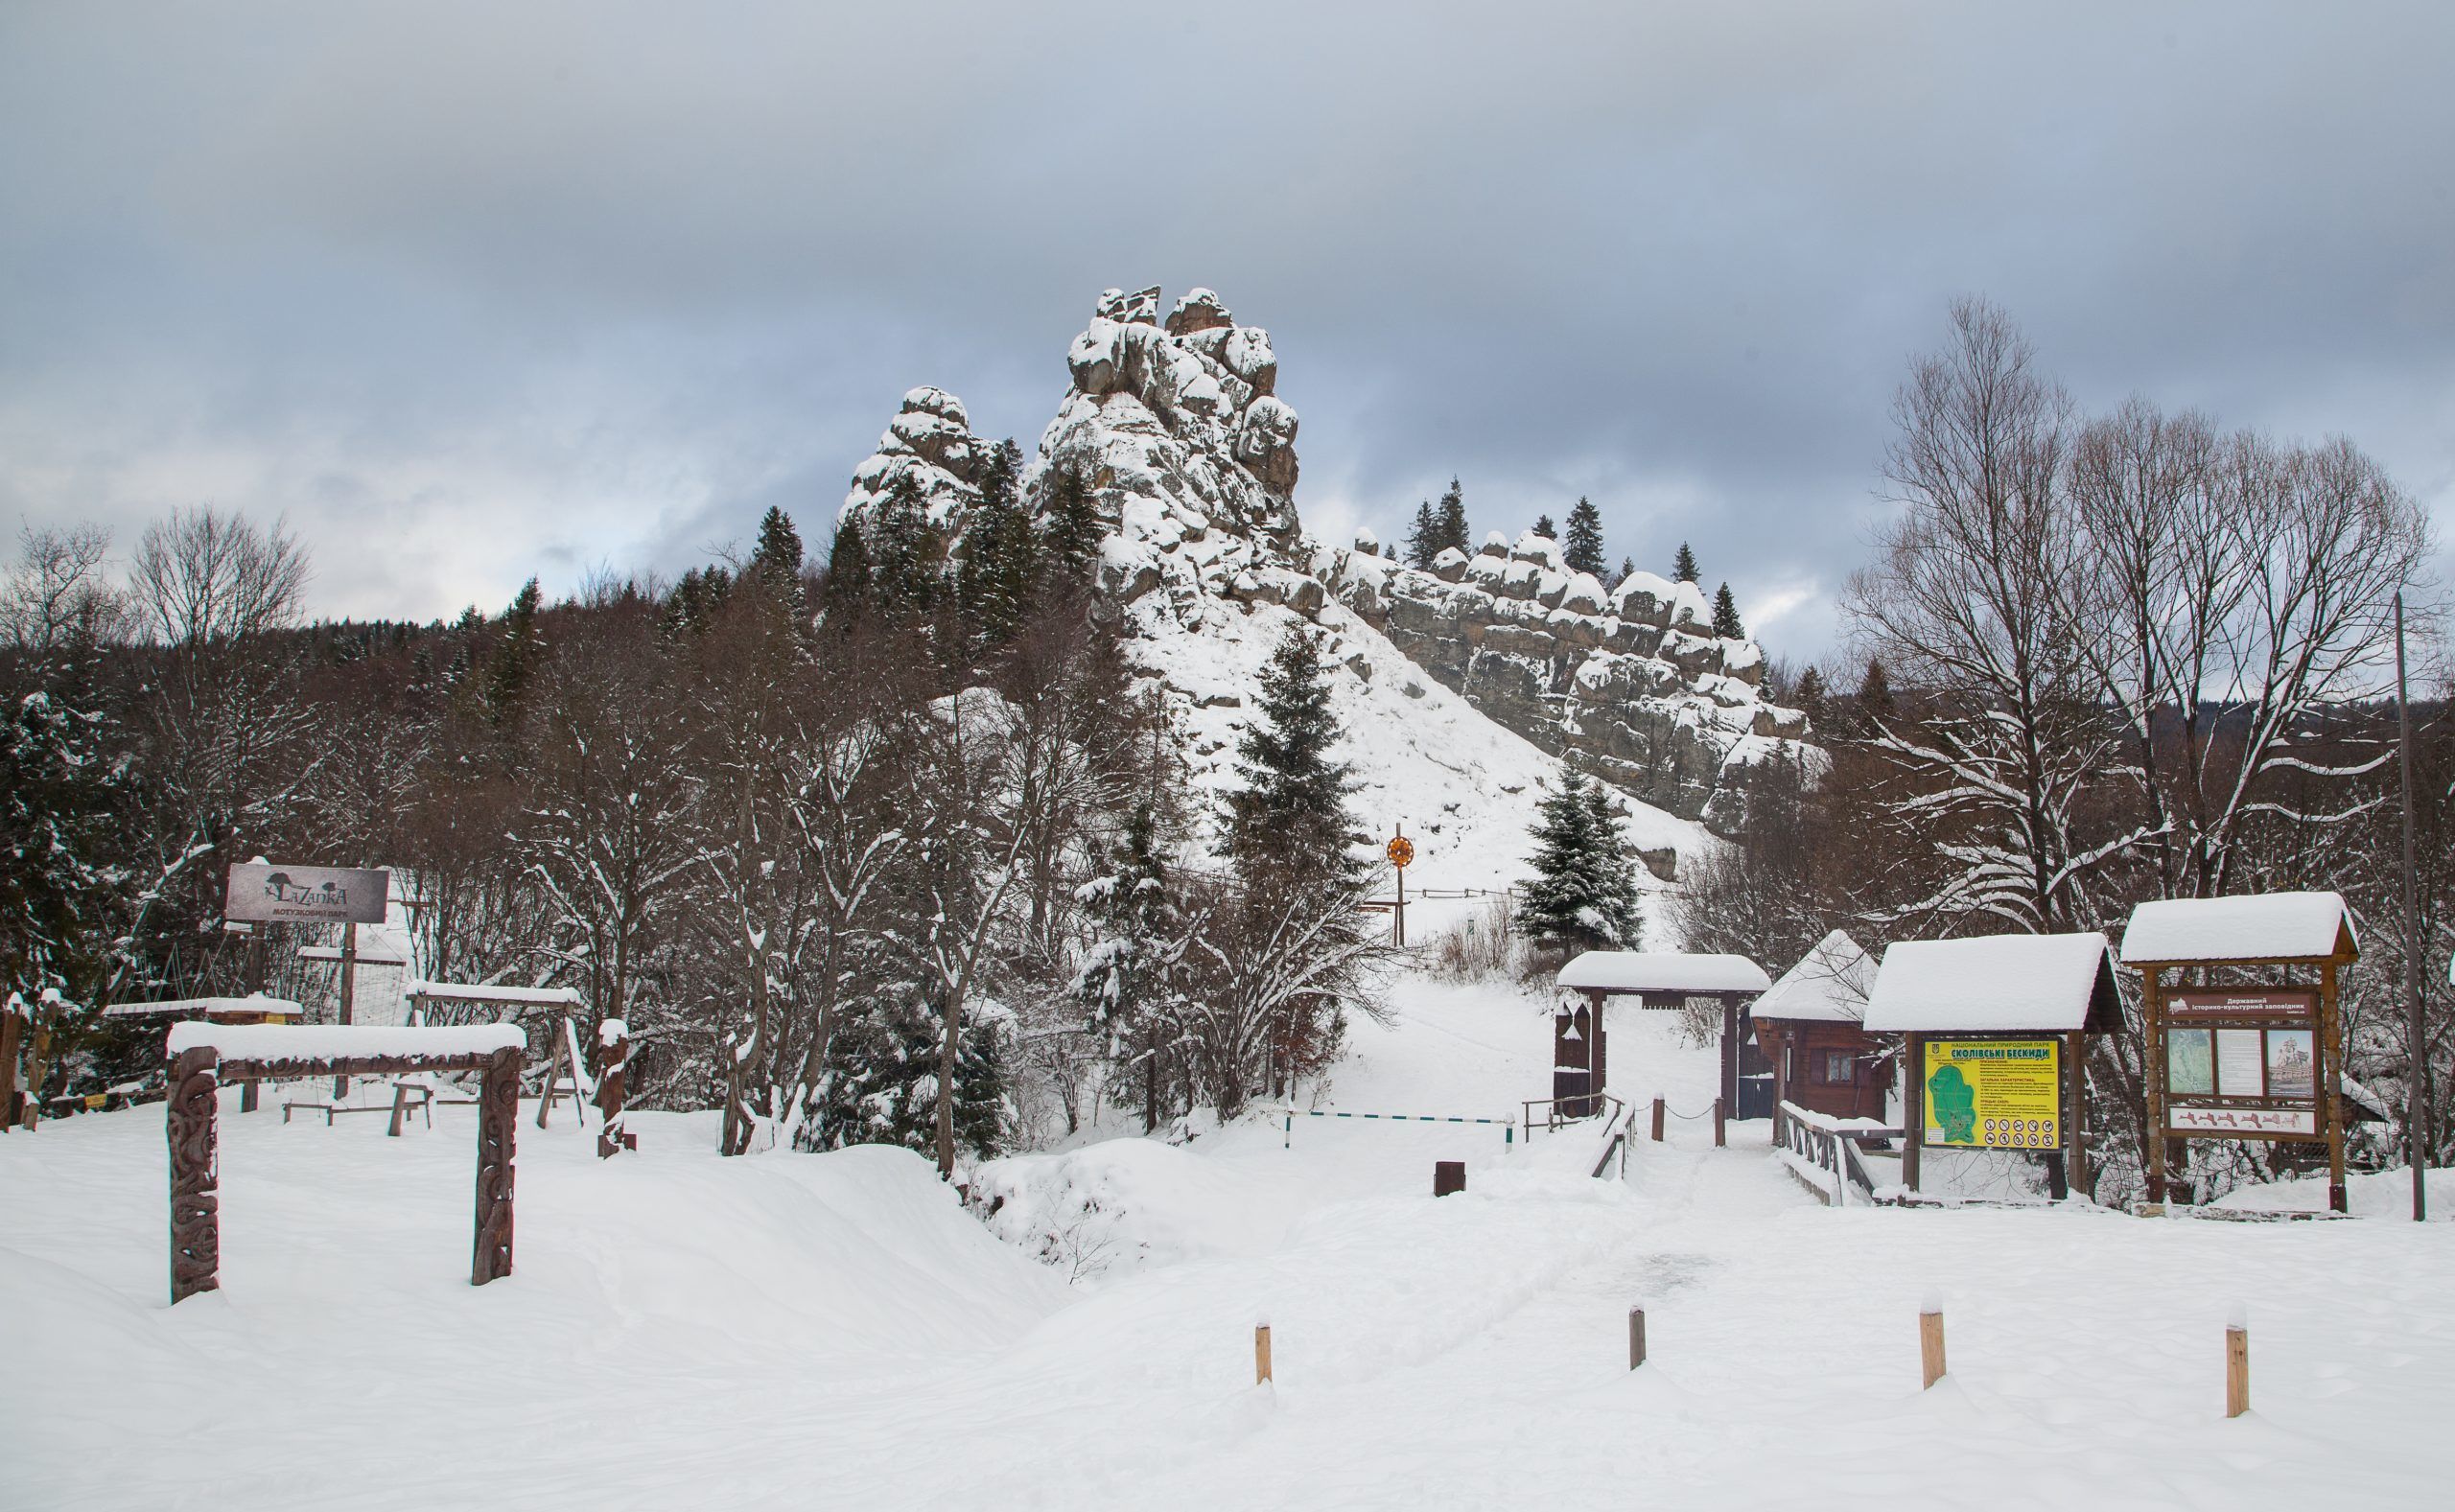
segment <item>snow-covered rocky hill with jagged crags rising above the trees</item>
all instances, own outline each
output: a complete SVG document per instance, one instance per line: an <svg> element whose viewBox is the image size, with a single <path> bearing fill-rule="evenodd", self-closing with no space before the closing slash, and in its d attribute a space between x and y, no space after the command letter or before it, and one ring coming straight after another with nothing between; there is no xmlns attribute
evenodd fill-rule
<svg viewBox="0 0 2455 1512"><path fill-rule="evenodd" d="M1299 623L1331 638L1358 817L1417 837L1421 889L1520 879L1559 754L1623 793L1628 839L1667 869L1662 852L1709 844L1689 820L1726 771L1804 734L1760 700L1763 653L1704 631L1694 584L1640 574L1603 594L1559 572L1542 538L1439 574L1306 538L1296 410L1277 393L1269 334L1235 324L1210 290L1166 317L1159 290L1110 290L1065 361L1026 488L1046 493L1063 469L1095 493L1110 523L1102 599L1173 695L1198 788L1235 783L1237 727ZM960 552L984 457L962 403L916 388L854 474L845 518L903 481Z"/></svg>

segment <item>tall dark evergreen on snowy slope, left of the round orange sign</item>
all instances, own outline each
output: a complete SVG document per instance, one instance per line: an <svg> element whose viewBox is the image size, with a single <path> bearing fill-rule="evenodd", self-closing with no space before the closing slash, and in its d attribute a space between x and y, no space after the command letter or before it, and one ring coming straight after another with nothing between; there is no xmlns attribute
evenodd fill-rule
<svg viewBox="0 0 2455 1512"><path fill-rule="evenodd" d="M1363 874L1348 854L1348 766L1331 761L1340 739L1321 636L1289 631L1262 668L1259 719L1237 739L1240 793L1228 795L1228 854L1255 876L1338 879Z"/></svg>

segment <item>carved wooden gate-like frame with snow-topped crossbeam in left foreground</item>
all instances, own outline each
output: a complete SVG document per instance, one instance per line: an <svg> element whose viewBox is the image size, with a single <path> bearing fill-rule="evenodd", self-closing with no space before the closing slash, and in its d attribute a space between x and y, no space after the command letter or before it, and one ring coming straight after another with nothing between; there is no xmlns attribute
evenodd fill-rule
<svg viewBox="0 0 2455 1512"><path fill-rule="evenodd" d="M221 1080L484 1073L476 1122L476 1242L469 1284L511 1274L513 1127L520 1119L516 1026L287 1028L179 1024L169 1036L169 1301L221 1286Z"/></svg>

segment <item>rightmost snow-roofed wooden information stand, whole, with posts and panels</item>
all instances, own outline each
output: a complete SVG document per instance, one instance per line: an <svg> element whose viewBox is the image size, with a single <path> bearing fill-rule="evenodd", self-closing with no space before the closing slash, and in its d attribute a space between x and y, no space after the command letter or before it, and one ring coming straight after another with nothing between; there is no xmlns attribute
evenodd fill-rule
<svg viewBox="0 0 2455 1512"><path fill-rule="evenodd" d="M2170 1161L2182 1159L2190 1139L2266 1139L2278 1144L2327 1146L2327 1208L2347 1213L2345 1193L2345 1019L2337 1004L2337 987L2345 967L2362 960L2362 945L2352 933L2352 916L2337 893L2264 893L2237 898L2163 898L2131 911L2124 930L2124 965L2141 974L2141 1016L2146 1028L2143 1070L2148 1080L2148 1200L2168 1200ZM2210 982L2212 972L2264 977L2278 972L2281 982L2227 984ZM2295 970L2315 979L2295 982ZM2197 977L2185 987L2182 977L2165 982L2165 972ZM2227 992L2232 987L2232 992ZM2234 999L2232 1004L2207 1004L2195 999ZM2308 1016L2288 999L2310 999ZM2175 1127L2173 1068L2168 1065L2168 1038L2178 1016L2190 1016L2185 1028L2210 1031L2259 1031L2308 1028L2313 1043L2310 1100L2315 1129L2251 1127L2268 1109L2300 1109L2298 1097L2271 1097L2266 1085L2256 1097L2227 1095L2212 1085L2207 1095L2190 1095L2180 1107L2210 1114L2239 1112L2239 1119L2210 1117L2197 1129ZM2266 1055L2266 1051L2264 1051Z"/></svg>

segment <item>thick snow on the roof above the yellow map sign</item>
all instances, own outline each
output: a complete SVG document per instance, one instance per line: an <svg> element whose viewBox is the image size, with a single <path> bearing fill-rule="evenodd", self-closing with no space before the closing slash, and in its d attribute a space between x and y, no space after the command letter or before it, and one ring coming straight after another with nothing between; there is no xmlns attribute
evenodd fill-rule
<svg viewBox="0 0 2455 1512"><path fill-rule="evenodd" d="M2094 930L1903 940L1866 999L1876 1033L2070 1033L2119 1016L2111 950Z"/></svg>

